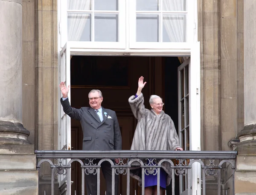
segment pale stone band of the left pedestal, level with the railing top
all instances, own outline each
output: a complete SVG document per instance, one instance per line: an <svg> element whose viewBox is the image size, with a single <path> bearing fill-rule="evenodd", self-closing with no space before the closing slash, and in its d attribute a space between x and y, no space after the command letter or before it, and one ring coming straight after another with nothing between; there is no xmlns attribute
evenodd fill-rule
<svg viewBox="0 0 256 195"><path fill-rule="evenodd" d="M0 155L0 170L35 170L35 155Z"/></svg>

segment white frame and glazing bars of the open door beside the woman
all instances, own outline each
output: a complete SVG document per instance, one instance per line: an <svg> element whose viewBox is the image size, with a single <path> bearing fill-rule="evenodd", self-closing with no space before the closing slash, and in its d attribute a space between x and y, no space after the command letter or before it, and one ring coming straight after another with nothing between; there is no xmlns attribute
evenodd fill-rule
<svg viewBox="0 0 256 195"><path fill-rule="evenodd" d="M195 43L191 52L191 56L180 66L188 66L189 72L189 150L200 151L201 150L201 115L200 115L200 43ZM180 74L180 72L178 73ZM178 75L178 79L179 75ZM185 82L185 77L184 77ZM178 82L180 83L180 82ZM185 85L185 84L184 84ZM181 94L180 86L178 86L178 106L179 106L179 138L181 143L181 112L182 107L180 104ZM185 95L185 89L184 89ZM184 101L185 102L185 101ZM186 106L184 106L186 109ZM185 119L186 120L186 117ZM184 126L184 129L186 126ZM186 133L185 135L186 136ZM185 137L185 148L186 148L186 137ZM182 175L180 175L180 195L201 195L201 165L199 163L192 164L192 183L191 186L185 191L182 189ZM192 187L192 188L190 188Z"/></svg>

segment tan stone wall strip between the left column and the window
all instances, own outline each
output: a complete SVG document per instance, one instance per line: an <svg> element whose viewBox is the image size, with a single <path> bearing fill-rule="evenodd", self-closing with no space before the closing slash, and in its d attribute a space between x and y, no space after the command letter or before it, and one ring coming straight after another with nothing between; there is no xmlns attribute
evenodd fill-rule
<svg viewBox="0 0 256 195"><path fill-rule="evenodd" d="M58 31L57 0L35 1L35 112L39 150L58 146ZM51 191L51 169L41 166L39 194ZM57 184L58 185L58 184ZM55 187L58 191L58 187Z"/></svg>

